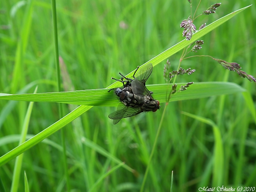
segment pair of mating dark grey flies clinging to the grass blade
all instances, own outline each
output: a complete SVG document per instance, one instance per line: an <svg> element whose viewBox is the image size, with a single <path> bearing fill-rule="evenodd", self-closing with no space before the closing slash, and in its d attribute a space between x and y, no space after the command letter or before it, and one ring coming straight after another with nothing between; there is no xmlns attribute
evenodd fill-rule
<svg viewBox="0 0 256 192"><path fill-rule="evenodd" d="M152 70L153 65L149 63L141 68L137 67L131 78L127 78L121 73L119 73L122 76L121 80L112 77L112 79L123 83L123 88L111 89L115 91L121 101L117 110L109 114L109 118L113 119L113 124L118 123L123 118L135 116L142 112L155 112L160 108L159 101L154 100L151 95L153 92L150 92L145 86Z"/></svg>

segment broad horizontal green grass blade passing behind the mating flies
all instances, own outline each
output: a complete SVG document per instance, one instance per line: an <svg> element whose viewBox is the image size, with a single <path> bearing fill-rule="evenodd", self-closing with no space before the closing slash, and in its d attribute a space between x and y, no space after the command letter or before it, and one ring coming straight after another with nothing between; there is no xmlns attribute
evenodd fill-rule
<svg viewBox="0 0 256 192"><path fill-rule="evenodd" d="M186 83L177 83L177 89ZM150 91L153 91L153 96L159 102L166 102L166 91L171 90L171 85L158 84L147 85ZM79 90L70 92L49 92L36 94L0 94L0 100L16 100L16 101L33 101L33 102L62 102L67 104L79 104L88 106L117 106L116 95L114 91L107 92L108 89L93 89ZM182 92L178 92L171 98L170 101L191 100L204 97L234 94L244 92L244 88L235 83L230 82L204 82L194 83Z"/></svg>

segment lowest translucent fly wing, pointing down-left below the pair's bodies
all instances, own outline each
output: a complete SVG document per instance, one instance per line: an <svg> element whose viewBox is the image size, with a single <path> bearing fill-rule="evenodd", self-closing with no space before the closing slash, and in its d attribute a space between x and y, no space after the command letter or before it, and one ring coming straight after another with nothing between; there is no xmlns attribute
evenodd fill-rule
<svg viewBox="0 0 256 192"><path fill-rule="evenodd" d="M141 112L142 112L142 110L137 107L126 107L121 103L117 107L116 111L109 114L109 119L113 119L113 124L115 125L121 119L126 118L126 117L135 116L137 114L140 114Z"/></svg>

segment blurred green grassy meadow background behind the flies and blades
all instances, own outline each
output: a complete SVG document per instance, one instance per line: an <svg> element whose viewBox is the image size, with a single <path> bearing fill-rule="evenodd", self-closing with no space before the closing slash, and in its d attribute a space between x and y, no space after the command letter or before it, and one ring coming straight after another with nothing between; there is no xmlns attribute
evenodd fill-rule
<svg viewBox="0 0 256 192"><path fill-rule="evenodd" d="M192 3L192 14L199 0ZM202 1L197 14L215 1ZM216 14L194 21L210 24L242 7L251 7L213 30L200 40L198 55L211 55L237 62L242 70L256 76L256 6L254 0L223 0ZM59 55L63 90L106 88L111 76L127 74L159 53L180 42L180 22L190 15L187 0L61 0L57 1ZM176 70L181 52L169 58ZM196 55L195 53L190 54ZM161 62L153 69L147 84L165 83ZM178 82L230 81L248 90L254 99L255 83L225 70L209 57L193 57L182 62L196 69L191 76L178 76ZM2 0L0 2L0 92L17 94L55 92L56 69L52 10L50 0ZM157 99L157 98L155 98ZM164 104L161 104L164 107ZM7 107L6 107L7 106ZM28 102L0 101L0 155L18 145ZM76 106L65 105L65 114ZM5 110L3 110L5 109ZM114 107L93 107L64 127L72 192L92 189L97 180L116 163L85 145L91 140L111 157L125 161L136 172L118 168L100 180L94 191L140 190L162 111L122 119L113 125L108 114ZM223 166L213 170L213 128L181 114L186 111L211 119L220 130ZM58 118L56 103L35 103L28 137L36 135ZM24 153L19 191L24 191L24 171L30 190L65 191L60 133ZM145 191L170 191L174 171L174 191L198 191L199 187L256 187L256 126L241 93L200 100L171 102L153 156ZM2 182L9 191L14 160L1 167ZM220 180L216 183L213 174Z"/></svg>

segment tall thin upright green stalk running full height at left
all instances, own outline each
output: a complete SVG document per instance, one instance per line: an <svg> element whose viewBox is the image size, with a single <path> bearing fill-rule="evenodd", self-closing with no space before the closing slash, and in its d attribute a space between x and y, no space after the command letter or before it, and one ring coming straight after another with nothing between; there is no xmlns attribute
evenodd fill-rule
<svg viewBox="0 0 256 192"><path fill-rule="evenodd" d="M56 0L52 0L52 21L53 21L53 32L54 32L54 45L55 45L55 65L56 65L56 75L57 75L57 91L61 91L61 78L60 78L60 69L59 69L59 46L58 46L58 31L57 31L57 11L56 11ZM59 119L63 117L63 108L62 104L59 103ZM64 163L64 172L66 177L66 190L70 192L70 182L68 175L68 165L66 162L66 145L64 130L61 129L62 137L62 147L63 147L63 163Z"/></svg>

